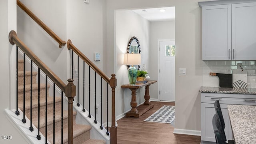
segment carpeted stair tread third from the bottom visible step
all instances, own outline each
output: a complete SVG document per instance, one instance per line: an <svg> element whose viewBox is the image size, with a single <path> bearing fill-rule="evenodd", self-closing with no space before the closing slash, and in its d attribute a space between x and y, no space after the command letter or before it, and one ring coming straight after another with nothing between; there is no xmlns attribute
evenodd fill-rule
<svg viewBox="0 0 256 144"><path fill-rule="evenodd" d="M75 116L77 114L76 111L73 111L73 116ZM47 113L47 124L53 124L53 112L51 113ZM68 110L63 110L63 119L68 118ZM55 113L55 122L61 121L61 112L56 112ZM38 126L38 118L32 118L32 122L34 124L34 126ZM44 116L40 116L40 128L45 127L45 115Z"/></svg>

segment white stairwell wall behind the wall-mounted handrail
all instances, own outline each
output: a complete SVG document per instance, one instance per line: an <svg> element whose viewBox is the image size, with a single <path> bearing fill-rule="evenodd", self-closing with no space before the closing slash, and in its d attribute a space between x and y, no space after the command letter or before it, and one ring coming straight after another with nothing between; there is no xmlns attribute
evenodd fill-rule
<svg viewBox="0 0 256 144"><path fill-rule="evenodd" d="M66 1L20 0L55 34L66 41ZM66 45L58 43L17 6L17 35L64 83L67 83ZM58 65L58 67L56 67Z"/></svg>

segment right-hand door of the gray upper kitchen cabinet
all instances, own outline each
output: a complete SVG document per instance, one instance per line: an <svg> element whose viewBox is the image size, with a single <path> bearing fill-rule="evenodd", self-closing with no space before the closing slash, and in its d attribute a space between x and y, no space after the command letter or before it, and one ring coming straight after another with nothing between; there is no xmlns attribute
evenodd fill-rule
<svg viewBox="0 0 256 144"><path fill-rule="evenodd" d="M256 2L232 4L232 52L234 60L256 60Z"/></svg>

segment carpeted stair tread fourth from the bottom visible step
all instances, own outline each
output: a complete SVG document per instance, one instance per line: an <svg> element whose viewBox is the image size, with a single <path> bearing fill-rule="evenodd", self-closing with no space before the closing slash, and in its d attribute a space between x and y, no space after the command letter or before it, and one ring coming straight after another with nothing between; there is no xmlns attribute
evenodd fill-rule
<svg viewBox="0 0 256 144"><path fill-rule="evenodd" d="M61 102L61 97L55 97L55 103L56 102ZM48 96L47 97L47 104L53 104L53 96ZM40 106L45 106L45 98L40 98ZM23 101L19 102L19 107L20 110L23 111ZM32 100L32 108L38 107L38 100L34 99ZM25 100L25 110L30 110L30 100Z"/></svg>

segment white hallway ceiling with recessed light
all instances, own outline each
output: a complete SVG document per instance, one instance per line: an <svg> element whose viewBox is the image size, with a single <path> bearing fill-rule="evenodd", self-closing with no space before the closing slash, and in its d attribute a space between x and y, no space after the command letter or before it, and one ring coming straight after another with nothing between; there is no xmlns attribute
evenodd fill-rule
<svg viewBox="0 0 256 144"><path fill-rule="evenodd" d="M160 12L161 9L165 9L165 12ZM147 8L132 11L150 22L175 20L175 7Z"/></svg>

